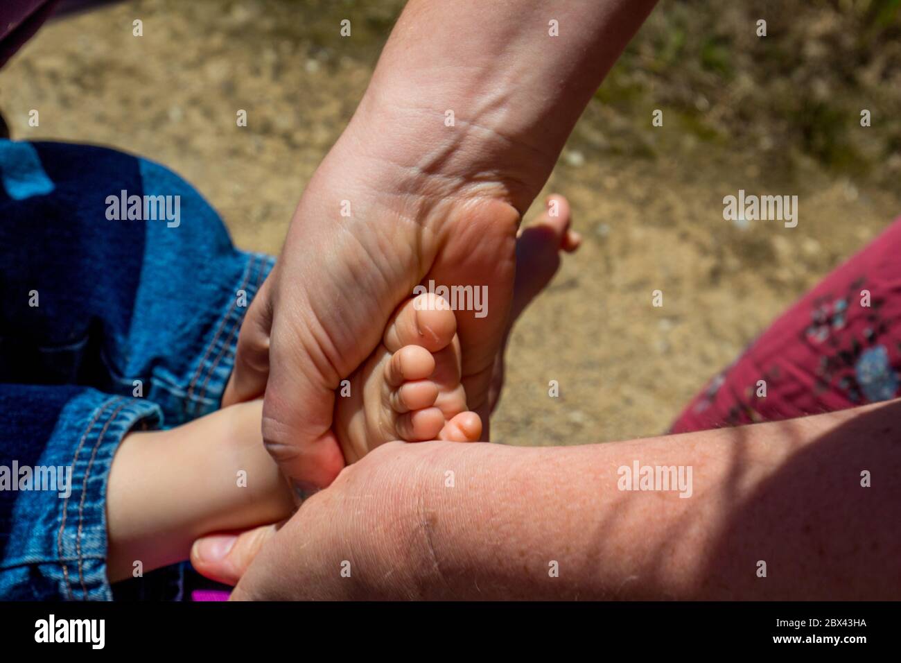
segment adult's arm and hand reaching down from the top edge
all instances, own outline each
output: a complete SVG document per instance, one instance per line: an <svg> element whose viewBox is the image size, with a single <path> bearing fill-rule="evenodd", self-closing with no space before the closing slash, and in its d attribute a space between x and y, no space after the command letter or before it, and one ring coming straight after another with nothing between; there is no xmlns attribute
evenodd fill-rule
<svg viewBox="0 0 901 663"><path fill-rule="evenodd" d="M309 489L341 470L334 390L421 281L487 286L487 317L458 311L469 407L487 421L519 219L653 4L407 5L241 328L224 402L265 388L263 437L287 475Z"/></svg>

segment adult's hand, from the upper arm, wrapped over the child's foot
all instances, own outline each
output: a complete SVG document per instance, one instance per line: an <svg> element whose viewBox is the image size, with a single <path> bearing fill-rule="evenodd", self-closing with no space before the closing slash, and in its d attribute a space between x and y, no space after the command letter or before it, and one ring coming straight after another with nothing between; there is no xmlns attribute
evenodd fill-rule
<svg viewBox="0 0 901 663"><path fill-rule="evenodd" d="M265 389L263 438L305 492L341 471L335 391L376 348L416 284L487 295L481 310L456 311L462 384L483 421L512 299L519 212L494 194L450 190L354 152L357 130L342 136L305 190L278 264L241 327L223 399L227 405Z"/></svg>

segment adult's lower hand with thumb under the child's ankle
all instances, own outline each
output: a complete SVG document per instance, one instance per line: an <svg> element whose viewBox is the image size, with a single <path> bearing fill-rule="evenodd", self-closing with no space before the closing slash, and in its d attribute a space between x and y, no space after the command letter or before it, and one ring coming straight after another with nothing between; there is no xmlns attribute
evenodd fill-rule
<svg viewBox="0 0 901 663"><path fill-rule="evenodd" d="M200 539L191 563L224 583L240 579L233 599L413 598L432 568L421 523L449 446L378 447L282 526Z"/></svg>

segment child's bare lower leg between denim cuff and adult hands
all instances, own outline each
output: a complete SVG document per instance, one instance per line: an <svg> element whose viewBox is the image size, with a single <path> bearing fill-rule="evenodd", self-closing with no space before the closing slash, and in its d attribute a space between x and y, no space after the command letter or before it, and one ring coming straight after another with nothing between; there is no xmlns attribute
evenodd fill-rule
<svg viewBox="0 0 901 663"><path fill-rule="evenodd" d="M106 495L111 582L187 559L214 531L284 520L287 482L263 447L262 401L170 430L133 432L113 459Z"/></svg>

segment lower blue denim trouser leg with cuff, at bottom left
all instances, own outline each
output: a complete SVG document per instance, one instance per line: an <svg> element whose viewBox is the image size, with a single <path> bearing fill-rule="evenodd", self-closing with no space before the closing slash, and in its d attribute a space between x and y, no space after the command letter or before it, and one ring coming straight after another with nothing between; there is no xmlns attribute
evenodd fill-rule
<svg viewBox="0 0 901 663"><path fill-rule="evenodd" d="M74 386L0 384L0 599L109 600L106 485L159 406Z"/></svg>

